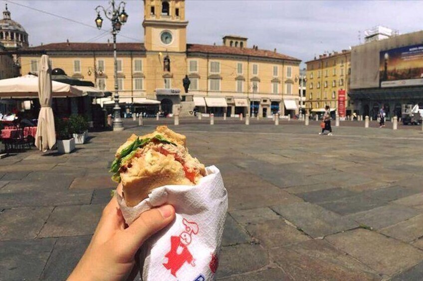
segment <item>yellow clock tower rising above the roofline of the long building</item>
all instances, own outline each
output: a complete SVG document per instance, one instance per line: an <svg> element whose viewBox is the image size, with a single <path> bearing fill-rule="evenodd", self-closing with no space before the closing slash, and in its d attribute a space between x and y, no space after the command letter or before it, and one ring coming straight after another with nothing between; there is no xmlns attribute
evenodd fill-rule
<svg viewBox="0 0 423 281"><path fill-rule="evenodd" d="M144 46L147 51L187 50L185 0L144 0Z"/></svg>

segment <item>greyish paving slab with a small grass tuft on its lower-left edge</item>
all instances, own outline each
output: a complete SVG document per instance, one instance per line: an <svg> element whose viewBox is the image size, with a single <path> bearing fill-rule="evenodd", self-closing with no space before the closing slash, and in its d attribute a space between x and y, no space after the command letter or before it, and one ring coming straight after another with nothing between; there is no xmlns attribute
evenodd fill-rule
<svg viewBox="0 0 423 281"><path fill-rule="evenodd" d="M314 238L358 227L353 220L311 203L293 203L271 208Z"/></svg>

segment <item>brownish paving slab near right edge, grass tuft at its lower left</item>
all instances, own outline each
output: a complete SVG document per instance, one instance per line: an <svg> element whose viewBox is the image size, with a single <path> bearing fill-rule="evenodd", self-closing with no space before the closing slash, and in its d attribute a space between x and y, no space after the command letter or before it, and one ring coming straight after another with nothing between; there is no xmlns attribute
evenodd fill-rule
<svg viewBox="0 0 423 281"><path fill-rule="evenodd" d="M407 220L418 214L420 214L419 210L390 204L369 211L348 215L347 217L357 221L361 225L380 229Z"/></svg>

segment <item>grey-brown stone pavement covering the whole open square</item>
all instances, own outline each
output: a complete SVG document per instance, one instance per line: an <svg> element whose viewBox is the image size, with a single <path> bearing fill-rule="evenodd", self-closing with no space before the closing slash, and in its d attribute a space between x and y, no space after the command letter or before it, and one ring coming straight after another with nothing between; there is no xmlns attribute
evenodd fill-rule
<svg viewBox="0 0 423 281"><path fill-rule="evenodd" d="M420 130L342 126L319 136L317 123L181 121L190 152L221 170L228 191L218 280L422 280ZM115 186L113 153L158 124L126 123L90 133L70 155L0 160L1 281L68 276Z"/></svg>

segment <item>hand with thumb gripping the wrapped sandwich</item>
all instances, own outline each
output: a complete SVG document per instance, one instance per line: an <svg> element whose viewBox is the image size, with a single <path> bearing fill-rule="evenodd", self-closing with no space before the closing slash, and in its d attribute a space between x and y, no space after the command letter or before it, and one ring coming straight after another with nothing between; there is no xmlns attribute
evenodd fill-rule
<svg viewBox="0 0 423 281"><path fill-rule="evenodd" d="M118 186L117 192L122 194L122 185ZM134 269L135 253L141 245L174 218L174 207L163 205L142 213L126 227L116 195L113 196L68 281L126 280Z"/></svg>

